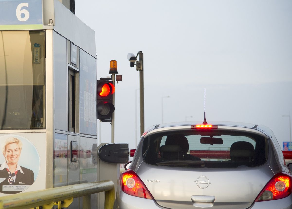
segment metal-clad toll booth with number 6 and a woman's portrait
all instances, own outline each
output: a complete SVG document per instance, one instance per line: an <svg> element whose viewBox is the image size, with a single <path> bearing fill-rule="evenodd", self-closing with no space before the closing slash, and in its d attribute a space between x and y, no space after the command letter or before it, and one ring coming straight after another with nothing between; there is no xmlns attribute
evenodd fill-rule
<svg viewBox="0 0 292 209"><path fill-rule="evenodd" d="M119 165L97 155L95 32L74 12L71 1L0 1L0 196L117 181ZM17 185L7 181L9 143L20 149ZM91 205L102 208L102 194Z"/></svg>

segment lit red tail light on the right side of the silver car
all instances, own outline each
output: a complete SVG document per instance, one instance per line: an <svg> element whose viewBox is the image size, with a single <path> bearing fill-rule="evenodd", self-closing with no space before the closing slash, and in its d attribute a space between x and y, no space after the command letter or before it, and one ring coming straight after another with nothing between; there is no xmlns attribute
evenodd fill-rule
<svg viewBox="0 0 292 209"><path fill-rule="evenodd" d="M266 184L256 202L281 199L289 196L291 191L291 176L278 173Z"/></svg>

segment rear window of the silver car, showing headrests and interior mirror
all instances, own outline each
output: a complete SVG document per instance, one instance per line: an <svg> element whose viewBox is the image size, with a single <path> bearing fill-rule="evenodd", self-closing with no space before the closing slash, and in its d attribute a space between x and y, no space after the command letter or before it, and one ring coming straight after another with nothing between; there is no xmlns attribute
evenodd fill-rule
<svg viewBox="0 0 292 209"><path fill-rule="evenodd" d="M267 139L254 133L186 130L143 140L143 159L155 166L248 168L267 160Z"/></svg>

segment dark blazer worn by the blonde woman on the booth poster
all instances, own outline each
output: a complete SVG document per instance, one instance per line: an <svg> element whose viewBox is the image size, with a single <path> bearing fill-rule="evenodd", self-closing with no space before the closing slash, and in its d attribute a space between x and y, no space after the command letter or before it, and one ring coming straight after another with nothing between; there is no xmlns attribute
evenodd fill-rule
<svg viewBox="0 0 292 209"><path fill-rule="evenodd" d="M22 169L24 174L18 171L13 185L32 185L32 183L34 182L34 172L22 166L20 166L20 168ZM22 192L22 191L3 191L3 185L9 185L7 181L8 177L9 175L5 168L3 170L0 170L0 178L6 178L3 182L0 182L0 192L4 194L16 194Z"/></svg>

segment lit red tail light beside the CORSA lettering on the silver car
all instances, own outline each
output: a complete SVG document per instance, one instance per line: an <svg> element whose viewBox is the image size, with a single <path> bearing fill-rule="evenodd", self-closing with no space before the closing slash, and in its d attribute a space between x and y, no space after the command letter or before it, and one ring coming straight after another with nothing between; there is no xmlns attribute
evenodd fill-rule
<svg viewBox="0 0 292 209"><path fill-rule="evenodd" d="M126 194L153 199L147 187L133 170L126 170L121 173L120 185Z"/></svg>

